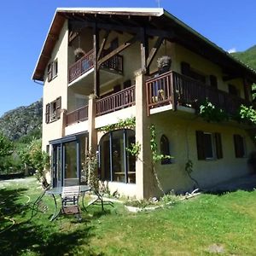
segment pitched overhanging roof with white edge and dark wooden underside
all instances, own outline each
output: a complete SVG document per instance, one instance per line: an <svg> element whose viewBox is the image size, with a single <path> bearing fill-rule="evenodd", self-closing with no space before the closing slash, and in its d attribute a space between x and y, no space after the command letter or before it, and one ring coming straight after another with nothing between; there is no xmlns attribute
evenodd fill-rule
<svg viewBox="0 0 256 256"><path fill-rule="evenodd" d="M177 17L171 15L165 9L161 8L58 8L55 11L54 18L49 26L49 32L44 41L43 48L38 58L37 65L32 74L32 79L44 81L44 70L49 62L51 53L58 40L61 28L66 19L72 20L76 16L79 20L83 18L81 15L90 15L93 19L97 16L104 17L111 22L112 15L120 15L129 17L129 19L137 19L136 21L144 26L149 26L153 21L148 21L148 17L154 18L154 27L160 26L162 30L175 30L177 32L177 43L183 44L195 52L205 55L207 58L214 60L218 65L225 66L230 72L247 74L253 81L256 81L256 71L248 67L241 61L235 59L224 49L213 44L209 39L203 37L199 32L196 32L191 27L178 20ZM125 20L125 22L129 22ZM131 23L131 26L134 24ZM190 44L189 42L193 44ZM202 47L205 50L202 50Z"/></svg>

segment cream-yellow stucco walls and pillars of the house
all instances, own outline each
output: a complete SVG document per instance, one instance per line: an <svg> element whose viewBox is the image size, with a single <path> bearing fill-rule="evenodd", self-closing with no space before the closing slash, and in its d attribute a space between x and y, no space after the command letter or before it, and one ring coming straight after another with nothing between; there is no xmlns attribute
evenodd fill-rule
<svg viewBox="0 0 256 256"><path fill-rule="evenodd" d="M100 32L100 41L103 37L103 32ZM83 79L79 83L74 81L68 83L68 67L74 62L73 50L81 47L85 52L93 48L92 29L85 29L81 33L81 38L76 38L72 45L68 44L68 22L65 21L62 26L61 33L55 48L52 52L50 61L58 61L57 76L48 82L47 69L44 72L44 113L46 104L55 101L61 96L61 117L49 124L45 123L45 115L43 114L43 150L49 145L49 141L61 139L62 137L73 136L89 131L89 144L98 144L101 141L103 132L99 129L105 125L113 125L119 119L131 118L135 116L137 120L136 141L142 144L142 152L140 160L136 162L136 183L118 183L108 182L110 191L118 191L121 195L143 198L150 196L159 196L158 189L152 170L143 162L151 163L150 153L150 133L148 125L154 124L156 128L156 142L160 148L160 137L165 135L169 140L171 155L173 157L172 164L161 165L156 164L155 170L160 179L160 183L165 192L175 190L177 192L185 192L195 188L195 183L189 178L185 172L185 165L188 160L193 162L194 177L200 184L201 189L211 187L217 183L221 183L232 177L241 177L248 173L247 156L254 149L253 140L249 137L244 126L229 121L225 123L208 123L199 118L191 108L173 111L172 107L165 108L165 111L156 111L147 115L146 106L146 90L145 81L148 76L143 73L135 73L141 68L141 44L139 42L132 44L131 47L120 53L123 55L123 74L108 74L108 71L100 71L101 75L101 96L106 93L113 93L113 88L120 84L120 89L124 89L124 82L128 79L131 84L136 85L136 102L135 105L128 108L123 108L115 112L96 116L95 102L90 100L90 93L93 89L93 70L85 73ZM88 39L86 39L88 38ZM110 47L110 42L118 38L119 45L124 44L131 38L128 33L111 32L108 38L108 44L105 48ZM151 37L148 40L149 49L154 46L156 37ZM184 48L180 44L164 41L160 45L160 49L154 56L154 60L149 67L149 73L157 71L156 60L162 55L170 55L172 58L172 71L181 73L181 63L188 62L190 67L198 73L208 77L214 75L218 79L218 90L229 91L228 85L233 84L239 90L241 98L245 97L243 78L231 79L224 81L225 73L223 68L213 63L210 60L197 55L189 49ZM209 81L206 81L206 86L209 86ZM249 96L252 99L252 96ZM83 102L83 103L81 103ZM81 107L79 104L89 104L88 119L66 125L65 114ZM171 106L171 105L170 105ZM160 109L160 108L159 108ZM167 110L166 110L167 109ZM181 108L180 108L181 109ZM196 148L196 131L205 131L208 133L220 133L222 139L223 158L217 159L215 156L211 160L198 160ZM233 136L241 135L244 138L246 155L243 158L236 158ZM213 143L214 148L214 143Z"/></svg>

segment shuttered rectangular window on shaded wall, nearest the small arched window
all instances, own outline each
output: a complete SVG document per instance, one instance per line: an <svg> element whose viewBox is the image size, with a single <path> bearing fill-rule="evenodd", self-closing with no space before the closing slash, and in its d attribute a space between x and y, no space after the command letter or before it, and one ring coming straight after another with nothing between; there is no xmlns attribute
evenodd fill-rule
<svg viewBox="0 0 256 256"><path fill-rule="evenodd" d="M196 131L196 146L198 160L223 158L220 133Z"/></svg>

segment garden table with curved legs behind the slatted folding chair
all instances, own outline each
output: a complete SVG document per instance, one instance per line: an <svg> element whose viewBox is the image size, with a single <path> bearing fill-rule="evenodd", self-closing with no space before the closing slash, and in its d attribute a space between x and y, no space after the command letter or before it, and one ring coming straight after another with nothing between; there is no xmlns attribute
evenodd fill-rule
<svg viewBox="0 0 256 256"><path fill-rule="evenodd" d="M55 188L52 188L52 189L48 189L45 192L47 195L52 195L52 197L53 197L53 199L55 201L55 212L53 213L52 217L50 218L50 221L55 220L55 218L57 218L59 216L59 214L61 213L61 210L58 211L56 195L60 195L61 196L64 188L65 188L64 186L62 186L62 187L55 187ZM91 188L88 185L79 185L80 194L83 195L83 197L82 197L82 205L83 205L85 211L87 211L87 210L86 210L86 207L84 206L84 195L85 195L85 192L89 192L90 190L91 190Z"/></svg>

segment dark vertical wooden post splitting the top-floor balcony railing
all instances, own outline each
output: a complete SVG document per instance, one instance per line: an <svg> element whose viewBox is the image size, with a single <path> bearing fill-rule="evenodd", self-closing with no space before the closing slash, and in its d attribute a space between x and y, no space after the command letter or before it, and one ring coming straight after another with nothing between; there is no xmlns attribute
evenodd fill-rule
<svg viewBox="0 0 256 256"><path fill-rule="evenodd" d="M94 26L93 32L93 48L94 48L94 93L96 97L100 96L100 75L98 69L97 55L99 50L99 30L97 24Z"/></svg>

